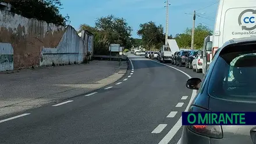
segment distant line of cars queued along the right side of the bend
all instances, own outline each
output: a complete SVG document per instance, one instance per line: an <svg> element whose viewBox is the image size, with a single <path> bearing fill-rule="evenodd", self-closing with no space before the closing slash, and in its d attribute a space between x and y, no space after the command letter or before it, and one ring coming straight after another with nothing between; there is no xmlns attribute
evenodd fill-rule
<svg viewBox="0 0 256 144"><path fill-rule="evenodd" d="M147 51L145 52L145 58L148 59L157 59L159 62L161 61L159 58L160 52ZM197 73L202 72L202 51L201 50L190 50L190 49L182 49L180 51L175 52L171 60L169 61L173 65L182 67L185 66L188 69L192 69Z"/></svg>

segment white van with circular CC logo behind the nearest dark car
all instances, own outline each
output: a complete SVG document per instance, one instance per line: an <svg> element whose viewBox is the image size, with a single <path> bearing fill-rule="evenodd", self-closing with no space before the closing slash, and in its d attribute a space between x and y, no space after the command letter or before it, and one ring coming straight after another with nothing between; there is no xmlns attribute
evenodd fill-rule
<svg viewBox="0 0 256 144"><path fill-rule="evenodd" d="M256 37L256 1L220 0L213 36L212 56L229 39Z"/></svg>

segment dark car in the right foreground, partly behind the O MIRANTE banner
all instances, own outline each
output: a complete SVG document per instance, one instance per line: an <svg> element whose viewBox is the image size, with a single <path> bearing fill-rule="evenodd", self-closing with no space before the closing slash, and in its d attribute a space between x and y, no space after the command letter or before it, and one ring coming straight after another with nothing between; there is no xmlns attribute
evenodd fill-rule
<svg viewBox="0 0 256 144"><path fill-rule="evenodd" d="M231 39L216 50L203 80L190 78L197 91L190 112L255 112L256 39ZM183 125L180 144L253 144L256 125Z"/></svg>

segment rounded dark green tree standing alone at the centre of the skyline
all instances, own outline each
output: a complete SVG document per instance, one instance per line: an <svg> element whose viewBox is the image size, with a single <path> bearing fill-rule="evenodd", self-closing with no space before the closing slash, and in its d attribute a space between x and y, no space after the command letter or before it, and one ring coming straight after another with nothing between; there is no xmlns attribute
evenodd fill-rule
<svg viewBox="0 0 256 144"><path fill-rule="evenodd" d="M161 24L157 26L153 21L140 24L137 34L140 35L147 49L159 49L164 43L163 26Z"/></svg>

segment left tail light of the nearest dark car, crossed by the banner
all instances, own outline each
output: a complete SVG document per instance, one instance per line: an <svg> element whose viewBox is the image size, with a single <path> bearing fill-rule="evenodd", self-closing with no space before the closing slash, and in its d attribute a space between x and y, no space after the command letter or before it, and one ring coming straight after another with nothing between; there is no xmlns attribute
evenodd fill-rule
<svg viewBox="0 0 256 144"><path fill-rule="evenodd" d="M191 106L190 112L210 112L202 109L201 107ZM209 138L221 139L223 138L221 125L187 125L191 131L199 134L208 136Z"/></svg>

